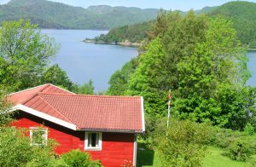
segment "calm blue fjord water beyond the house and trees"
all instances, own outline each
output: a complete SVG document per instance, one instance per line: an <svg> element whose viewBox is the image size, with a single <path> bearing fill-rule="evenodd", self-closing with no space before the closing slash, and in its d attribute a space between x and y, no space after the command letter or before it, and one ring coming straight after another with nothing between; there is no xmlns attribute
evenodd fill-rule
<svg viewBox="0 0 256 167"><path fill-rule="evenodd" d="M83 84L92 79L96 92L108 89L113 72L137 56L136 48L81 42L85 37L96 37L107 31L44 29L42 33L55 37L55 41L61 44L52 63L61 66L75 83ZM250 51L247 55L248 67L253 73L247 84L256 86L256 52Z"/></svg>

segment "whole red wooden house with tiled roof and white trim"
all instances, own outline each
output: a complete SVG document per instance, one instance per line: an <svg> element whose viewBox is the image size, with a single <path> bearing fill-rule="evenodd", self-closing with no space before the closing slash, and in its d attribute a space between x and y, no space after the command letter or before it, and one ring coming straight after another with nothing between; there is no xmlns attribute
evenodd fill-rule
<svg viewBox="0 0 256 167"><path fill-rule="evenodd" d="M13 125L29 130L32 145L52 138L58 154L79 148L104 166L122 166L125 160L136 165L137 134L145 130L143 97L76 95L52 84L9 96L18 111ZM38 133L40 140L34 137Z"/></svg>

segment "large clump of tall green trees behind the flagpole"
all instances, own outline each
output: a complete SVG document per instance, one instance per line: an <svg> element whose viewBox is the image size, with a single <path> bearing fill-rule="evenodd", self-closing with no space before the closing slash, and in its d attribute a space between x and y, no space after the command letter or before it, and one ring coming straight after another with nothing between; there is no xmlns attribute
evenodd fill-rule
<svg viewBox="0 0 256 167"><path fill-rule="evenodd" d="M149 116L166 115L171 87L175 117L233 130L255 124L255 89L244 86L248 60L230 21L162 12L150 34L125 91L143 95Z"/></svg>

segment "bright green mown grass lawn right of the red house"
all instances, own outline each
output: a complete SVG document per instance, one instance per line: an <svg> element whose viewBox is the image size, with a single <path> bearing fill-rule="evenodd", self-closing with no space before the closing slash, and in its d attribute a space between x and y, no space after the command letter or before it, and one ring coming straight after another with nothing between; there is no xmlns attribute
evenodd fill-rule
<svg viewBox="0 0 256 167"><path fill-rule="evenodd" d="M243 167L248 166L246 163L233 161L223 155L224 150L218 147L209 147L209 153L203 160L203 167ZM253 156L256 158L256 155ZM160 167L160 159L153 150L148 149L145 144L138 143L137 145L137 166L155 166Z"/></svg>

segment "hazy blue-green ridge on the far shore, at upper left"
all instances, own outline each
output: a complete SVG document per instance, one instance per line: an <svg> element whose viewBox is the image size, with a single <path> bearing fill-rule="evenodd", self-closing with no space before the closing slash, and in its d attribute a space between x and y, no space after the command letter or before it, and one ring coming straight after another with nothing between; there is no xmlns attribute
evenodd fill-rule
<svg viewBox="0 0 256 167"><path fill-rule="evenodd" d="M32 20L41 28L111 29L154 20L159 9L90 6L88 9L46 0L11 0L0 6L0 21Z"/></svg>

